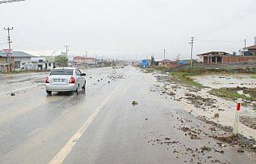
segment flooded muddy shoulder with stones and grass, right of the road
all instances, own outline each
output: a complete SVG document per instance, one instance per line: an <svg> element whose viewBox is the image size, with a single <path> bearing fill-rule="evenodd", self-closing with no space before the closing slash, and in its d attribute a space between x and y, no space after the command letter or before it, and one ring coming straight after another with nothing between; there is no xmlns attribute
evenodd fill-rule
<svg viewBox="0 0 256 164"><path fill-rule="evenodd" d="M213 73L209 75L203 73L204 76L213 75L217 79L222 79L222 81L226 81L225 78L230 78L230 80L233 81L231 86L226 85L225 82L224 84L219 84L222 87L228 88L226 89L228 90L227 92L224 88L212 88L210 85L205 86L202 81L198 80L205 79L205 77L202 77L200 74L199 76L190 76L190 73L182 71L168 72L159 70L151 70L151 73L157 79L157 92L170 96L172 99L179 102L189 114L193 114L200 120L226 132L223 136L213 135L211 137L256 151L254 86L256 82L254 82L255 79L252 78L252 74L244 77L244 74L236 73L236 78L240 79L241 84L243 84L241 85L236 84L236 78L230 73L225 73L225 76L223 73ZM216 80L216 82L218 82L218 80ZM248 82L250 82L250 84L248 84ZM237 85L237 87L234 87L234 85ZM228 96L218 95L216 92L213 92L214 90L223 92ZM243 104L240 112L241 121L239 134L233 137L231 131L234 125L234 115L236 111L236 102L234 100L237 97L247 99L247 101ZM235 142L235 140L237 140L237 142Z"/></svg>

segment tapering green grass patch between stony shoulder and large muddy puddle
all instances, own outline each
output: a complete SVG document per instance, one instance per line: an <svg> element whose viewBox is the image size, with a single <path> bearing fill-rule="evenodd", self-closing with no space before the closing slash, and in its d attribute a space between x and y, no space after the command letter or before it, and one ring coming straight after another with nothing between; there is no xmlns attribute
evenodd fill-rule
<svg viewBox="0 0 256 164"><path fill-rule="evenodd" d="M184 85L204 88L202 84L200 84L199 82L195 82L193 79L190 78L190 73L173 72L171 73L171 75L178 78Z"/></svg>

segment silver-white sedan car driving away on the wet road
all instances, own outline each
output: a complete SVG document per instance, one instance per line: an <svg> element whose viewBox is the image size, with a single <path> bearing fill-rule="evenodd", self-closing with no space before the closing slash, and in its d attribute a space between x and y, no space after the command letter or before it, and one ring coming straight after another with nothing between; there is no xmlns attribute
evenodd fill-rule
<svg viewBox="0 0 256 164"><path fill-rule="evenodd" d="M46 77L46 93L75 91L78 94L80 89L85 92L85 76L78 68L54 68Z"/></svg>

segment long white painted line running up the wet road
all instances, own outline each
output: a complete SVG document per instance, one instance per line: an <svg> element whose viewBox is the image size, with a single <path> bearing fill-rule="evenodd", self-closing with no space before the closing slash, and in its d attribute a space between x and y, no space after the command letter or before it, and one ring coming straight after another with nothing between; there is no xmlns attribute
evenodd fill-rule
<svg viewBox="0 0 256 164"><path fill-rule="evenodd" d="M122 82L119 83L119 85ZM72 148L74 148L75 144L78 142L78 140L81 138L81 136L84 134L84 131L87 130L89 125L93 122L93 119L96 118L96 116L101 111L101 108L107 103L108 99L116 92L117 88L119 88L119 85L114 88L114 90L107 96L106 99L102 102L101 105L99 105L98 108L93 112L93 114L90 115L90 117L87 119L86 122L81 126L81 128L78 129L78 131L75 132L75 134L69 139L68 142L66 142L66 145L64 145L63 148L51 159L49 164L59 164L63 163L63 160L65 160L66 156L72 151Z"/></svg>

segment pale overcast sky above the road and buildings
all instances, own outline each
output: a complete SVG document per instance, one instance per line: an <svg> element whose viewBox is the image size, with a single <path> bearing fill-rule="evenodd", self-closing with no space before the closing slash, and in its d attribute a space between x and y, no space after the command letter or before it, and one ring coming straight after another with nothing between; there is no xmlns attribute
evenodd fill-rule
<svg viewBox="0 0 256 164"><path fill-rule="evenodd" d="M0 49L14 27L13 50L34 55L189 59L191 36L194 54L253 45L255 18L256 0L26 0L0 4Z"/></svg>

